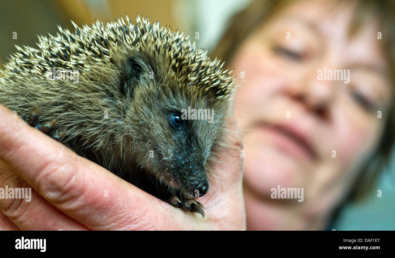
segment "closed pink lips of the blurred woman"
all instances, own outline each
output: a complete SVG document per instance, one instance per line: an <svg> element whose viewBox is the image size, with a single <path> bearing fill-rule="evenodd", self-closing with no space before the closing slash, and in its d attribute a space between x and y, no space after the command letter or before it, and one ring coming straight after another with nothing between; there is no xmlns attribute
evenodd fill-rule
<svg viewBox="0 0 395 258"><path fill-rule="evenodd" d="M296 127L261 123L259 128L269 135L270 140L281 151L306 161L313 161L317 158L307 136L300 133Z"/></svg>

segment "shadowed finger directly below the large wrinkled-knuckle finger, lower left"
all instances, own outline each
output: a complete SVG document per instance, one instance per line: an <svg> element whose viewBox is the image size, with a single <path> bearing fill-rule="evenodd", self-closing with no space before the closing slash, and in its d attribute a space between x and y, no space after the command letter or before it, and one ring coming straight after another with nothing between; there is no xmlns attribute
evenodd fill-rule
<svg viewBox="0 0 395 258"><path fill-rule="evenodd" d="M6 193L12 198L0 199L1 213L21 230L87 230L44 200L1 160L0 187L12 190Z"/></svg>

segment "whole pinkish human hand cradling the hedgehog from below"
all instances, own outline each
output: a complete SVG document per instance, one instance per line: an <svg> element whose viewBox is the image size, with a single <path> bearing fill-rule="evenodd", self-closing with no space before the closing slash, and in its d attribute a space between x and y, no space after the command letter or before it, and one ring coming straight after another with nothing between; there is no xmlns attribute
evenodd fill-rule
<svg viewBox="0 0 395 258"><path fill-rule="evenodd" d="M0 105L0 187L32 187L30 202L0 198L0 230L245 229L242 143L234 118L227 122L230 148L217 151L207 175L203 218L120 179Z"/></svg>

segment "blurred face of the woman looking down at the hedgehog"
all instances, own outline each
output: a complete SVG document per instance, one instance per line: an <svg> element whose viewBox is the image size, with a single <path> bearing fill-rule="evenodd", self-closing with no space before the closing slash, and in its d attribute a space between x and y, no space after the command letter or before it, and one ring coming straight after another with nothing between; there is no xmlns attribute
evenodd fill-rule
<svg viewBox="0 0 395 258"><path fill-rule="evenodd" d="M392 99L389 67L376 17L352 33L355 4L296 2L257 27L233 58L235 74L245 71L235 115L249 220L263 217L250 195L307 218L330 213L378 145ZM336 69L346 69L343 78L326 77ZM303 187L303 202L271 199L278 185Z"/></svg>

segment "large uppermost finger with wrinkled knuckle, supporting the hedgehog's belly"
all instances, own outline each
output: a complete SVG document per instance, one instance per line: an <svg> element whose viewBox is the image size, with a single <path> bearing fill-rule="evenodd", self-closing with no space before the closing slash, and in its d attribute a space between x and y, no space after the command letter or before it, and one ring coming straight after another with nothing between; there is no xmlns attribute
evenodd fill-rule
<svg viewBox="0 0 395 258"><path fill-rule="evenodd" d="M168 224L169 217L179 214L21 119L13 119L2 105L0 159L45 200L89 229L152 228L153 222Z"/></svg>

